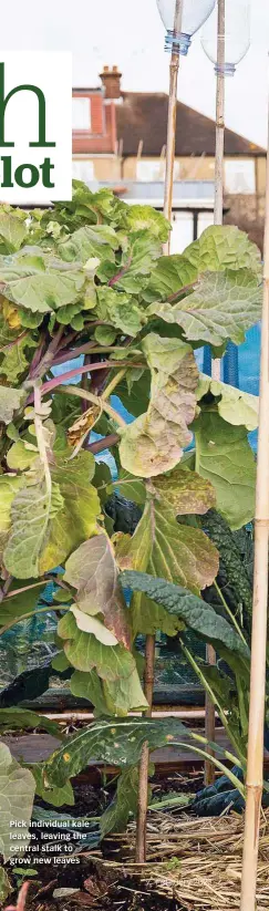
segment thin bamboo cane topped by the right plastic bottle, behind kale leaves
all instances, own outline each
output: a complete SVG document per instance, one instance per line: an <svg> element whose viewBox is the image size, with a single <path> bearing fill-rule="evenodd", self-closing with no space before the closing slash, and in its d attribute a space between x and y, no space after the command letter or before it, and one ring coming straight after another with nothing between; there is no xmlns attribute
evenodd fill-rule
<svg viewBox="0 0 269 911"><path fill-rule="evenodd" d="M217 45L217 93L216 93L216 157L215 157L215 199L214 225L223 225L224 211L224 135L225 135L225 0L218 0L218 45ZM221 379L221 361L213 360L213 380ZM216 652L207 645L208 664L216 664ZM215 707L206 694L206 737L215 741ZM209 750L208 750L209 752ZM215 781L215 766L205 762L205 785Z"/></svg>

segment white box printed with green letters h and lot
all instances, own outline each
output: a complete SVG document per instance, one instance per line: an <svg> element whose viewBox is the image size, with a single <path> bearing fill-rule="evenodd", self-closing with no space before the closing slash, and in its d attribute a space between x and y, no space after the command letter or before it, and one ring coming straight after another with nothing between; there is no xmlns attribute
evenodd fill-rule
<svg viewBox="0 0 269 911"><path fill-rule="evenodd" d="M0 203L71 198L72 54L0 51Z"/></svg>

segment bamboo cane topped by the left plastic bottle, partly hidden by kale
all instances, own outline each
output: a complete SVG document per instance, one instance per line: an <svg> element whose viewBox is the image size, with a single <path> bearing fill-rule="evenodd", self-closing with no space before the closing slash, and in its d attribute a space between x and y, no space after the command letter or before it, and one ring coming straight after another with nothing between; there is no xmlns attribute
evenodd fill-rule
<svg viewBox="0 0 269 911"><path fill-rule="evenodd" d="M180 31L182 12L184 0L175 0L174 31ZM173 180L176 145L176 106L177 106L177 80L179 69L179 54L172 45L169 66L169 101L167 120L167 143L166 143L166 166L165 166L165 188L164 188L164 215L170 221L173 205ZM170 249L170 238L164 246L164 253L168 256ZM154 686L154 658L155 658L155 635L146 636L145 654L145 695L148 702L147 717L152 715L153 686ZM148 791L148 764L149 752L147 744L144 744L139 763L138 781L138 805L136 826L136 862L145 863L146 860L146 814L147 814L147 791Z"/></svg>

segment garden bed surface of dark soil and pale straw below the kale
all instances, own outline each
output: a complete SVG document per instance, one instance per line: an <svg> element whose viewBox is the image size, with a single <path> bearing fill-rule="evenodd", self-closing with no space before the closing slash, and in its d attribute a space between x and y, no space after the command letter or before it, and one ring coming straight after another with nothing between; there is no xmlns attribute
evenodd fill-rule
<svg viewBox="0 0 269 911"><path fill-rule="evenodd" d="M59 867L30 887L28 911L234 911L240 908L244 817L196 819L151 812L147 863L134 862L135 827L84 852L73 870ZM105 855L108 857L105 857ZM110 855L117 853L118 860ZM261 819L257 911L269 907L269 812ZM65 890L59 893L59 890ZM77 890L68 893L66 890ZM56 891L55 891L56 890Z"/></svg>

